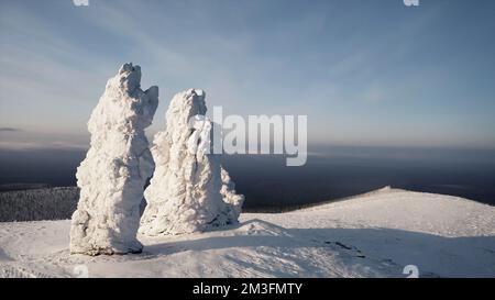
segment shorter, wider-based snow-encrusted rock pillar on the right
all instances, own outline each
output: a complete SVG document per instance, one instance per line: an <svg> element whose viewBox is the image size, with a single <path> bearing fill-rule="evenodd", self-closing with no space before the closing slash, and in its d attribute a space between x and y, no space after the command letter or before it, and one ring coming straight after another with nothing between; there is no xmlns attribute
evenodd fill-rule
<svg viewBox="0 0 495 300"><path fill-rule="evenodd" d="M219 155L206 151L213 146L213 123L206 111L202 90L190 89L173 98L166 130L153 142L156 169L144 192L147 207L140 233L184 234L238 222L244 197L235 193Z"/></svg>

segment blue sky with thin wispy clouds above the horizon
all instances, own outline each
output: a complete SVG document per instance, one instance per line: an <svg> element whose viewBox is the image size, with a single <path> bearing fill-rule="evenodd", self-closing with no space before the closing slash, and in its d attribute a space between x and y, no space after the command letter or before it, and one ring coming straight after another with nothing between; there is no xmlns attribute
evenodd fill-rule
<svg viewBox="0 0 495 300"><path fill-rule="evenodd" d="M495 2L1 1L0 148L85 147L107 79L307 114L311 144L495 148Z"/></svg>

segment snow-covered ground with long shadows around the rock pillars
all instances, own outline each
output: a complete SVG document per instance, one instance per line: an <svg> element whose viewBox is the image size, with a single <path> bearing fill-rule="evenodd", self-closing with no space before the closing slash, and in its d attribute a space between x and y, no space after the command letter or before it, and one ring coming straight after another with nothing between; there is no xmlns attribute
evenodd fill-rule
<svg viewBox="0 0 495 300"><path fill-rule="evenodd" d="M383 189L221 231L147 238L142 254L70 255L69 221L0 223L0 277L495 277L495 207Z"/></svg>

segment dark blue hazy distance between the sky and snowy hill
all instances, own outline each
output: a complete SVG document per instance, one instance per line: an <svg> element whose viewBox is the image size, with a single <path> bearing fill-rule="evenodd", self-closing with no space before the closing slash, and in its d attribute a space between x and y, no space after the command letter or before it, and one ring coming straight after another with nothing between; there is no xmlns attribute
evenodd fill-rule
<svg viewBox="0 0 495 300"><path fill-rule="evenodd" d="M495 205L495 152L331 147L301 167L280 155L233 155L223 166L245 195L245 209L280 210L355 196L385 186L452 195ZM323 149L321 149L323 151ZM85 149L0 149L0 188L75 186Z"/></svg>

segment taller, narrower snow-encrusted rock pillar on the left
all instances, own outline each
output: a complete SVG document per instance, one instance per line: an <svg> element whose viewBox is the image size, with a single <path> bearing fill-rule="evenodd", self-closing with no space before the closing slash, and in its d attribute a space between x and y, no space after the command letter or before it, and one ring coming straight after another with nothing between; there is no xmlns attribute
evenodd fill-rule
<svg viewBox="0 0 495 300"><path fill-rule="evenodd" d="M123 65L91 113L91 146L76 174L80 198L72 219L70 253L142 249L139 207L154 169L144 129L156 111L158 88L143 91L140 82L140 66Z"/></svg>

